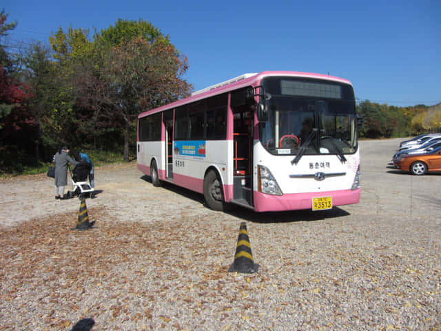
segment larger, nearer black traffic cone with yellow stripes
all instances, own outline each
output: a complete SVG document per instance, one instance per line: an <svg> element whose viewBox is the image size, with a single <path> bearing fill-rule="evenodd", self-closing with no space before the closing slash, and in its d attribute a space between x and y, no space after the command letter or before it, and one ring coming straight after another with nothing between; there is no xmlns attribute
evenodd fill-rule
<svg viewBox="0 0 441 331"><path fill-rule="evenodd" d="M229 272L243 272L253 274L257 272L259 265L254 263L253 254L251 251L251 244L249 243L247 223L240 223L239 237L236 245L236 255L234 262L229 267Z"/></svg>

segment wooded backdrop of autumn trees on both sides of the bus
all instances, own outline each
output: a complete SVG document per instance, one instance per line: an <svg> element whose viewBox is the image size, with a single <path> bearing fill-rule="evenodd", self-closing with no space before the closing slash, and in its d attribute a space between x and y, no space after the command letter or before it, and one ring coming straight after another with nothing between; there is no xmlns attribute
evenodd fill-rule
<svg viewBox="0 0 441 331"><path fill-rule="evenodd" d="M93 33L59 28L50 46L6 46L0 12L0 175L52 159L63 144L77 149L135 154L136 117L187 97L188 61L148 21L119 19ZM18 49L18 50L17 50ZM441 132L441 104L398 108L360 101L360 137L404 137Z"/></svg>

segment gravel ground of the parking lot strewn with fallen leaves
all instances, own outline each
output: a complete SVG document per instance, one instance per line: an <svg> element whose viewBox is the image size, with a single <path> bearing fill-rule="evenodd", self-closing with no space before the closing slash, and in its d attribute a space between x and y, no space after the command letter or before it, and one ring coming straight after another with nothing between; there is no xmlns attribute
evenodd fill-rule
<svg viewBox="0 0 441 331"><path fill-rule="evenodd" d="M441 176L388 169L398 142L362 141L362 199L327 212L214 212L131 163L78 231L51 179L3 180L0 330L441 330ZM228 272L242 221L256 274Z"/></svg>

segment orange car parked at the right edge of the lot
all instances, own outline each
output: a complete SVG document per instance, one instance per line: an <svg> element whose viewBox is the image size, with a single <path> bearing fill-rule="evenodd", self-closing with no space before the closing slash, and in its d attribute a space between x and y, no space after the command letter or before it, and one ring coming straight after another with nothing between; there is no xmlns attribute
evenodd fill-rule
<svg viewBox="0 0 441 331"><path fill-rule="evenodd" d="M402 155L393 160L393 166L418 175L426 172L441 172L441 148L436 148L427 154Z"/></svg>

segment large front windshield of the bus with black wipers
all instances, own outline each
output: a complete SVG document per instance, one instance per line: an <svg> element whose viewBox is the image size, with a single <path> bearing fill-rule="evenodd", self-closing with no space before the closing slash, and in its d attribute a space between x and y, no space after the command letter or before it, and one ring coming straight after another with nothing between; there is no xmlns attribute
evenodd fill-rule
<svg viewBox="0 0 441 331"><path fill-rule="evenodd" d="M358 141L351 86L274 77L263 81L268 121L260 141L271 154L353 154Z"/></svg>

